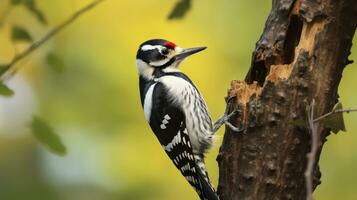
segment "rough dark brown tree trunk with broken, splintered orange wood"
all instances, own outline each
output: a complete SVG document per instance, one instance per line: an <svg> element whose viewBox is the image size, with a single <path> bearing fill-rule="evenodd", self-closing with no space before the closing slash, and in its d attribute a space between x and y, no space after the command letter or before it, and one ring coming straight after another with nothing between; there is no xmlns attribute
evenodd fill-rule
<svg viewBox="0 0 357 200"><path fill-rule="evenodd" d="M237 126L226 129L217 157L221 200L305 199L306 106L316 101L316 116L338 101L337 88L357 23L356 0L273 0L264 33L256 44L245 81L232 81L242 113ZM329 130L321 135L314 172L320 183L318 158Z"/></svg>

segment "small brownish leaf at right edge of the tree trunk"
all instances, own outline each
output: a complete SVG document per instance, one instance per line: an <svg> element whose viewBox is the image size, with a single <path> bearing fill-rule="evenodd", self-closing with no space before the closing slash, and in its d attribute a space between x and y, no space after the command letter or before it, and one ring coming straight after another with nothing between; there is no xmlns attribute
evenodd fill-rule
<svg viewBox="0 0 357 200"><path fill-rule="evenodd" d="M330 128L333 133L338 133L339 131L346 131L345 122L343 120L343 113L336 112L337 110L342 110L341 102L338 102L332 109L331 115L321 119L321 122L326 128Z"/></svg>

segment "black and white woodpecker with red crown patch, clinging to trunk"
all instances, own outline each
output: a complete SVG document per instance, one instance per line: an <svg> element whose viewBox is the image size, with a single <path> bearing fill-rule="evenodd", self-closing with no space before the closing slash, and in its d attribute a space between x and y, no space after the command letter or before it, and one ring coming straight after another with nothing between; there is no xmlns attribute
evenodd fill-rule
<svg viewBox="0 0 357 200"><path fill-rule="evenodd" d="M188 56L206 47L181 48L152 39L139 46L136 55L144 115L174 165L201 200L218 200L208 177L204 154L212 147L215 132L228 122L225 114L213 123L207 105L194 83L178 67Z"/></svg>

